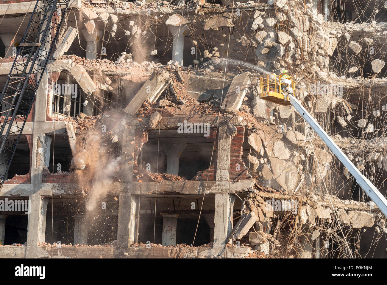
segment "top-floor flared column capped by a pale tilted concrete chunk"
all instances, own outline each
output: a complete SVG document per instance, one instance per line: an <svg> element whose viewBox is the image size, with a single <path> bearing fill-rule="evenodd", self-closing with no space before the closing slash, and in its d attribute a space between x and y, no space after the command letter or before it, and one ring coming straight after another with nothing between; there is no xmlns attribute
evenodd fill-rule
<svg viewBox="0 0 387 285"><path fill-rule="evenodd" d="M176 14L170 16L165 22L173 35L172 60L176 60L180 66L183 66L184 36L188 31L189 22Z"/></svg>

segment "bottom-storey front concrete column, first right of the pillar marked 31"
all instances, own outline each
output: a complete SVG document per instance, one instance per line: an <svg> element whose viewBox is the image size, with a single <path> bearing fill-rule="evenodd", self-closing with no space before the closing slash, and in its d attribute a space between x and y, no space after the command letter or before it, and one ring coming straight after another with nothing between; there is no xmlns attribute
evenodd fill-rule
<svg viewBox="0 0 387 285"><path fill-rule="evenodd" d="M214 248L224 247L227 236L233 229L233 204L235 195L227 193L215 194L215 215L214 215Z"/></svg>

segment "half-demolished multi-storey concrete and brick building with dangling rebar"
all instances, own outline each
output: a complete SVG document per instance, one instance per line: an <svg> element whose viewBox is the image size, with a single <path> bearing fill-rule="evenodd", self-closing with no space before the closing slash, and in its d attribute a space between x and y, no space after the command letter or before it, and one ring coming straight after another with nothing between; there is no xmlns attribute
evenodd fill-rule
<svg viewBox="0 0 387 285"><path fill-rule="evenodd" d="M0 257L386 257L375 203L291 106L259 97L288 70L385 196L373 4L70 1L0 169ZM1 87L33 5L0 2Z"/></svg>

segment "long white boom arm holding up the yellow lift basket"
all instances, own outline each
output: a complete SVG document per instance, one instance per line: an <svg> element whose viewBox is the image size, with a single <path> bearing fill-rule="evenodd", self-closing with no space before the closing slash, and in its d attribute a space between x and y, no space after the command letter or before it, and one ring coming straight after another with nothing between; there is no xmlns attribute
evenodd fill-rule
<svg viewBox="0 0 387 285"><path fill-rule="evenodd" d="M290 104L296 109L296 111L307 121L312 129L320 136L330 150L336 155L342 164L348 169L348 171L356 179L356 182L360 185L363 191L370 196L372 201L378 206L380 211L387 217L387 200L378 191L378 189L368 180L356 166L349 160L349 158L341 151L341 149L333 142L330 136L321 128L321 126L312 118L312 116L305 110L300 102L291 94L288 95Z"/></svg>

